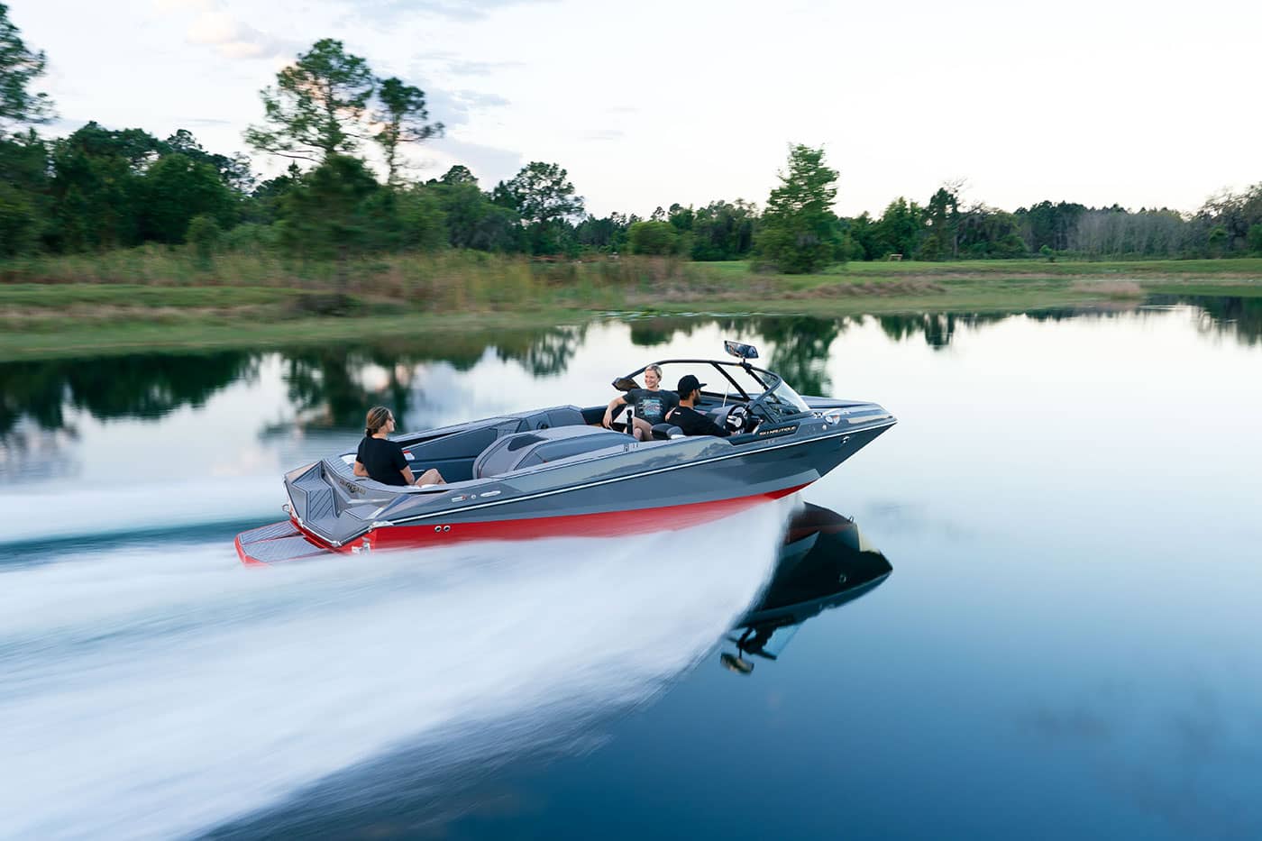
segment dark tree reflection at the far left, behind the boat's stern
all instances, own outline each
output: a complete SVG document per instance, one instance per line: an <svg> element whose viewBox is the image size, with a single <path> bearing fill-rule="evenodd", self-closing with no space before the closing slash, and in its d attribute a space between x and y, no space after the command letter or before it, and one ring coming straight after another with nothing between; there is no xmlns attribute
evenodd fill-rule
<svg viewBox="0 0 1262 841"><path fill-rule="evenodd" d="M66 409L98 419L160 418L183 405L198 407L241 379L257 360L246 351L145 354L0 364L0 437L30 418L43 429L66 426Z"/></svg>

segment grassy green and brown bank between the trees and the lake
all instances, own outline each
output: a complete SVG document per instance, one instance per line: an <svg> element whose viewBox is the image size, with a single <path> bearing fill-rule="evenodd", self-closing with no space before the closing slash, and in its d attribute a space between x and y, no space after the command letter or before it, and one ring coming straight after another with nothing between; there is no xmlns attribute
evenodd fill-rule
<svg viewBox="0 0 1262 841"><path fill-rule="evenodd" d="M442 336L610 313L1000 313L1148 294L1259 297L1262 259L854 263L777 275L746 263L449 253L363 261L339 283L328 265L231 255L197 268L186 253L146 248L0 261L0 360Z"/></svg>

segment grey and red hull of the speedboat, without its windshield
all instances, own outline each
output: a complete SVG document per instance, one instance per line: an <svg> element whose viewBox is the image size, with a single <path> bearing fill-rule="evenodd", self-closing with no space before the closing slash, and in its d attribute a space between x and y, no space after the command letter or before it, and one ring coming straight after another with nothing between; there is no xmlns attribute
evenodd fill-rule
<svg viewBox="0 0 1262 841"><path fill-rule="evenodd" d="M779 499L818 481L895 420L875 404L840 420L806 417L740 438L697 436L634 442L586 427L511 433L487 457L598 438L601 450L498 471L433 489L363 482L343 461L324 460L285 477L290 523L242 534L245 563L300 559L462 540L612 537L680 529ZM492 423L501 423L493 420ZM475 432L482 431L475 427ZM449 433L451 434L451 433ZM457 429L454 434L464 434ZM607 442L612 439L612 446ZM500 443L502 442L502 448ZM424 457L422 463L428 463Z"/></svg>

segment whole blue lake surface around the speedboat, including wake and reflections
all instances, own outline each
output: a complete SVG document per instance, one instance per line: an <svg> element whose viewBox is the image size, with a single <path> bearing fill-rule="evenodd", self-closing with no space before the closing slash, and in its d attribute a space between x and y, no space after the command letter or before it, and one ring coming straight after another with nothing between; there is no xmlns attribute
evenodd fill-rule
<svg viewBox="0 0 1262 841"><path fill-rule="evenodd" d="M900 423L687 532L237 562L374 403L722 338ZM1259 384L1232 298L3 364L0 837L1262 837Z"/></svg>

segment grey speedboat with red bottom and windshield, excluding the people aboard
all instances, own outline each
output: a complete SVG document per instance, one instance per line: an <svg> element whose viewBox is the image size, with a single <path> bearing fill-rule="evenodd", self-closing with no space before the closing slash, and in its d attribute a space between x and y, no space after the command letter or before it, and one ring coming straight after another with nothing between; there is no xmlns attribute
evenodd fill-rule
<svg viewBox="0 0 1262 841"><path fill-rule="evenodd" d="M755 367L757 349L724 342L731 360L655 362L663 381L705 384L698 412L728 437L684 436L658 424L636 441L606 404L559 405L396 436L409 463L437 467L443 485L395 486L355 475L339 453L285 475L289 519L244 532L247 564L442 546L457 540L618 535L678 529L810 485L895 424L875 403L801 397ZM613 381L640 388L649 365ZM617 419L616 419L617 420Z"/></svg>

